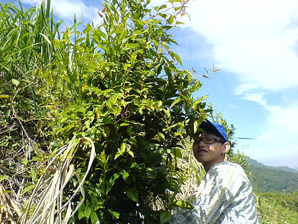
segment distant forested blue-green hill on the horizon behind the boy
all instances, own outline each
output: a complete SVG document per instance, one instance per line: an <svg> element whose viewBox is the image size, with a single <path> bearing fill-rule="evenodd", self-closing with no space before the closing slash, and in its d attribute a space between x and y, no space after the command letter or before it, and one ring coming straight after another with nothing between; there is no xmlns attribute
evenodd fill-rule
<svg viewBox="0 0 298 224"><path fill-rule="evenodd" d="M258 192L295 192L298 190L298 172L287 166L266 166L248 157L248 172Z"/></svg>

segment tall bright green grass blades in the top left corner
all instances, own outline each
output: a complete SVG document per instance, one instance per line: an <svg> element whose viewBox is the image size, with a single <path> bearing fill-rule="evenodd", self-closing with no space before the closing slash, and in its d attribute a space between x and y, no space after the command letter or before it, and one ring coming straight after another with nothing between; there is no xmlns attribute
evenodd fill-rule
<svg viewBox="0 0 298 224"><path fill-rule="evenodd" d="M32 78L30 72L49 65L55 57L53 42L60 38L61 21L54 22L50 0L24 9L1 3L0 68L7 78ZM4 57L3 57L4 56Z"/></svg>

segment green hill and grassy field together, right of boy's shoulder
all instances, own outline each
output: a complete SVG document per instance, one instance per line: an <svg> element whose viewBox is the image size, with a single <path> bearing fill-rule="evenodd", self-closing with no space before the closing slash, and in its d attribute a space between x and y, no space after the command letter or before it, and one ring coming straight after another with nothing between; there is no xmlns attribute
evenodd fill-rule
<svg viewBox="0 0 298 224"><path fill-rule="evenodd" d="M298 224L296 171L289 167L266 166L247 156L244 159L256 194L259 223Z"/></svg>

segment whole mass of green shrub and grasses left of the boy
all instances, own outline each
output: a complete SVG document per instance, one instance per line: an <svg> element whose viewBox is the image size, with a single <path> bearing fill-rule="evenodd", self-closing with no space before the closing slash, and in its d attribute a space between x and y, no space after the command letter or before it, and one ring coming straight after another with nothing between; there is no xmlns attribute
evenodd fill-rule
<svg viewBox="0 0 298 224"><path fill-rule="evenodd" d="M165 223L173 206L188 206L175 199L182 140L211 110L193 99L201 83L170 49L187 1L106 0L102 23L82 31L75 17L62 31L50 0L1 3L1 184L23 222L47 211L63 221L79 207L69 219ZM51 191L57 205L42 207Z"/></svg>

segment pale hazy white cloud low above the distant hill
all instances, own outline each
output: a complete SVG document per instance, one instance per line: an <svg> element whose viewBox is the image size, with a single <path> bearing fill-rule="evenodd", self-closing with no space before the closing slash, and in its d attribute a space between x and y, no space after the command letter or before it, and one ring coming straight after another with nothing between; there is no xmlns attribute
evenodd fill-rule
<svg viewBox="0 0 298 224"><path fill-rule="evenodd" d="M298 104L270 106L263 94L246 94L245 99L262 105L267 116L254 124L262 133L256 136L258 141L249 142L250 149L244 153L265 164L297 167Z"/></svg>

